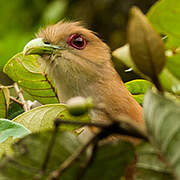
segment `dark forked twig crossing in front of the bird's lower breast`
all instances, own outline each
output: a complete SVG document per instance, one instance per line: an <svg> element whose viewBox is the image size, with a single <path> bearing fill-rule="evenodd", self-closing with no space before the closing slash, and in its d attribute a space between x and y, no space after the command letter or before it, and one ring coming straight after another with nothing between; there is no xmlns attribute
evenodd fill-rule
<svg viewBox="0 0 180 180"><path fill-rule="evenodd" d="M96 126L99 125L99 123L83 123L83 122L76 122L74 123L74 121L63 121L61 119L56 119L57 122L59 123L65 123L65 124L77 124L77 125L87 125L87 126ZM128 127L128 128L127 128ZM127 136L133 136L133 137L137 137L137 138L141 138L144 139L146 141L148 141L148 138L138 129L136 129L136 127L134 127L131 124L125 123L123 122L122 124L119 121L112 121L112 124L109 125L102 125L100 124L100 131L94 135L92 138L89 139L88 142L86 142L86 144L84 144L79 150L77 150L74 154L72 154L69 158L67 158L61 165L60 167L51 172L48 180L57 180L62 173L71 166L71 164L77 160L79 158L79 156L88 148L88 146L90 144L93 143L98 143L98 141L107 138L108 136L112 135L112 134L121 134L121 135L127 135ZM96 144L95 144L95 149L93 150L93 153L96 151ZM86 163L86 167L89 166L94 158L94 154L93 156L90 158L90 160ZM80 177L83 176L85 173L85 170L83 170L80 173ZM78 177L79 177L78 176Z"/></svg>

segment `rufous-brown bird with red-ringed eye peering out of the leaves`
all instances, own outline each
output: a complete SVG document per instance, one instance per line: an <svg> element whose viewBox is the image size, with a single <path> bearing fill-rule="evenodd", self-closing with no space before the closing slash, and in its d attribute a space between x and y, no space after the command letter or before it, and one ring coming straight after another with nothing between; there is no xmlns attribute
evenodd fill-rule
<svg viewBox="0 0 180 180"><path fill-rule="evenodd" d="M110 48L81 22L59 21L40 29L23 52L41 56L60 102L76 96L92 97L95 106L103 104L114 118L125 115L143 126L142 107L116 72ZM92 109L92 122L111 121L104 110Z"/></svg>

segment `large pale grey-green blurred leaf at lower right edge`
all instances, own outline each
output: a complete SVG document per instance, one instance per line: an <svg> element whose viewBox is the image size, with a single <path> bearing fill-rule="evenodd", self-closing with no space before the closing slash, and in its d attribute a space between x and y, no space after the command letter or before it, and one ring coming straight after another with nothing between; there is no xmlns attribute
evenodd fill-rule
<svg viewBox="0 0 180 180"><path fill-rule="evenodd" d="M150 91L144 100L144 116L152 143L180 179L180 106Z"/></svg>

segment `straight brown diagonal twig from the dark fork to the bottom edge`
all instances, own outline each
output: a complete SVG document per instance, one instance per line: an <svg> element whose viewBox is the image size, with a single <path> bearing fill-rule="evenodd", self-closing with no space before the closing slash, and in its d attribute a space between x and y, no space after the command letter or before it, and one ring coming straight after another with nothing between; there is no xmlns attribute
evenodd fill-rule
<svg viewBox="0 0 180 180"><path fill-rule="evenodd" d="M88 142L86 142L79 150L77 150L74 154L72 154L69 158L67 158L61 165L60 167L53 171L48 180L57 180L61 174L67 170L67 168L75 161L79 158L79 156L87 149L87 147L93 143L94 141L96 141L98 138L98 134L94 135L92 138L89 139Z"/></svg>

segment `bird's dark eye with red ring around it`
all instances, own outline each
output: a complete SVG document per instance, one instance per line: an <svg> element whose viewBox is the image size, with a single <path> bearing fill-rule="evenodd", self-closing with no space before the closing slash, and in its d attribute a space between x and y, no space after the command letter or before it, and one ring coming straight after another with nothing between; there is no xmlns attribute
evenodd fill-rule
<svg viewBox="0 0 180 180"><path fill-rule="evenodd" d="M81 50L86 47L87 41L79 34L71 34L67 38L67 44L73 48Z"/></svg>

